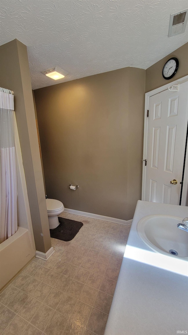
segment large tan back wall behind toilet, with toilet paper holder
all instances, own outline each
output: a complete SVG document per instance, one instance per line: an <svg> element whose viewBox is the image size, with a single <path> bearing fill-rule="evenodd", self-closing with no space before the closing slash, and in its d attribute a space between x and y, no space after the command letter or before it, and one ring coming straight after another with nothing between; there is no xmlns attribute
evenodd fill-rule
<svg viewBox="0 0 188 335"><path fill-rule="evenodd" d="M67 208L133 217L141 196L144 93L145 70L135 68L34 91L49 198ZM69 184L80 188L71 191Z"/></svg>

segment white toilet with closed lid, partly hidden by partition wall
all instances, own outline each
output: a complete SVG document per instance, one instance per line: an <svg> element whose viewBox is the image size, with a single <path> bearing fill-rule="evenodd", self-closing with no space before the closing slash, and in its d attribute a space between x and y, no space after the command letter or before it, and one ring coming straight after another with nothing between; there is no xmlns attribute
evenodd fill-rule
<svg viewBox="0 0 188 335"><path fill-rule="evenodd" d="M46 207L48 212L48 221L50 229L59 226L58 215L60 215L65 207L63 203L55 199L46 199Z"/></svg>

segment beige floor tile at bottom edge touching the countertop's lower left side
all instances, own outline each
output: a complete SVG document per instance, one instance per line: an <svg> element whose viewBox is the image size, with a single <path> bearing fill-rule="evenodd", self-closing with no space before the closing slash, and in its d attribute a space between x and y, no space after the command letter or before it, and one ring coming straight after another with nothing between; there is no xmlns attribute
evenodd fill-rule
<svg viewBox="0 0 188 335"><path fill-rule="evenodd" d="M107 314L93 308L87 323L87 328L97 335L103 335L107 318Z"/></svg>

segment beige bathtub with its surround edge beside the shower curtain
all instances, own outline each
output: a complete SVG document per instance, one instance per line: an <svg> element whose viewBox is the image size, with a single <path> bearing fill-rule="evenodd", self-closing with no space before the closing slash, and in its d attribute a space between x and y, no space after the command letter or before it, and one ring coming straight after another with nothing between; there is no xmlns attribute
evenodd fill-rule
<svg viewBox="0 0 188 335"><path fill-rule="evenodd" d="M0 290L35 256L35 244L16 119L14 118L18 230L0 244Z"/></svg>

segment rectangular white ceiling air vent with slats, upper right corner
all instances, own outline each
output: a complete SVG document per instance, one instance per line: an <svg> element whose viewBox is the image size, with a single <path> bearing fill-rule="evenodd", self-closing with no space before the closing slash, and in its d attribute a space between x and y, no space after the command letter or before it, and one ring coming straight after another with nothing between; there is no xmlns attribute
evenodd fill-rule
<svg viewBox="0 0 188 335"><path fill-rule="evenodd" d="M168 37L182 34L188 19L188 9L170 15Z"/></svg>

